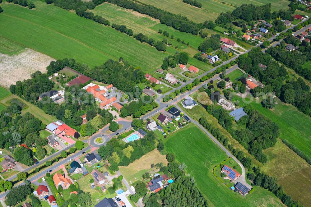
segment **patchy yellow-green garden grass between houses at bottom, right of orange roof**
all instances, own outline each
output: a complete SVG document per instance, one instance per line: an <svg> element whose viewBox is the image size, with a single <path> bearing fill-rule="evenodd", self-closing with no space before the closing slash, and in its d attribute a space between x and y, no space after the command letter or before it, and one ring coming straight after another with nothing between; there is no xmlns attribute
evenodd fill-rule
<svg viewBox="0 0 311 207"><path fill-rule="evenodd" d="M106 198L113 198L114 196L117 195L116 193L111 195L108 193L108 191L106 191L104 193L102 190L91 189L89 181L92 178L93 178L92 175L88 174L87 176L80 179L78 181L78 183L79 183L79 187L82 191L91 193L91 200L92 200L93 205L96 205L99 201L103 200L105 197Z"/></svg>

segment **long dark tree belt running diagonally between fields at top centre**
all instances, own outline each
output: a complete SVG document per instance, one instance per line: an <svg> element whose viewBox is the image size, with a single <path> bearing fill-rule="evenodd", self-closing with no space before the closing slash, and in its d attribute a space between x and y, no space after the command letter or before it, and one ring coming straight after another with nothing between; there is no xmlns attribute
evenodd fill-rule
<svg viewBox="0 0 311 207"><path fill-rule="evenodd" d="M109 2L116 4L119 7L132 9L139 13L149 15L155 19L159 19L162 24L172 26L176 30L195 35L197 35L199 30L204 27L202 24L197 25L193 21L188 20L185 16L176 15L142 2L136 3L130 0L92 0L92 2L94 2L94 4Z"/></svg>

